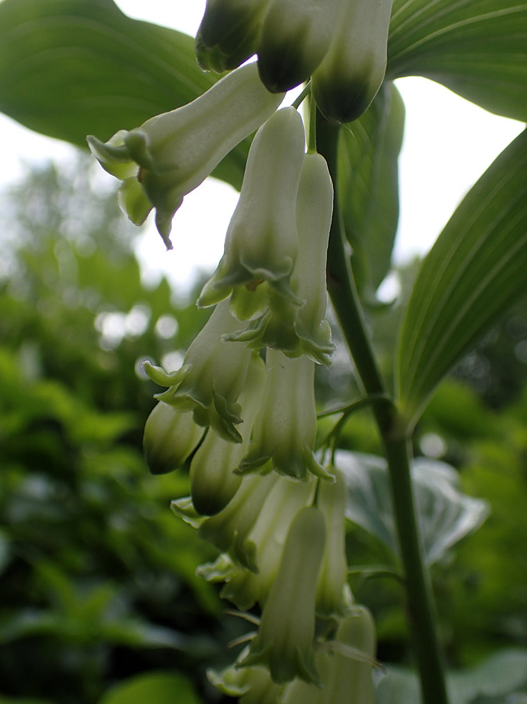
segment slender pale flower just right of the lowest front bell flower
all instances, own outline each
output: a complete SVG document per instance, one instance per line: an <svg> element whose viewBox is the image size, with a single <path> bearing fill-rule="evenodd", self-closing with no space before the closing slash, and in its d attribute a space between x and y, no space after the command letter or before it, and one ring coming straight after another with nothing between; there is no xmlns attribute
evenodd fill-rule
<svg viewBox="0 0 527 704"><path fill-rule="evenodd" d="M346 560L346 482L335 470L334 483L322 482L318 488L318 508L326 524L327 541L317 584L316 608L323 617L345 614L351 607Z"/></svg>

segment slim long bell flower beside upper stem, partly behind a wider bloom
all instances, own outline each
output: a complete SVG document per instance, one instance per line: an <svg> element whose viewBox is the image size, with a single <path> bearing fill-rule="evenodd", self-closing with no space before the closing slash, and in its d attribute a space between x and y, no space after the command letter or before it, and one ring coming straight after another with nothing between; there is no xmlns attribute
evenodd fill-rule
<svg viewBox="0 0 527 704"><path fill-rule="evenodd" d="M224 336L244 341L250 348L272 347L288 357L305 354L320 364L330 364L334 352L331 328L325 320L327 306L326 257L333 210L333 187L325 159L306 154L297 197L299 253L293 279L302 303L292 322L285 323L271 310L249 322L245 329Z"/></svg>

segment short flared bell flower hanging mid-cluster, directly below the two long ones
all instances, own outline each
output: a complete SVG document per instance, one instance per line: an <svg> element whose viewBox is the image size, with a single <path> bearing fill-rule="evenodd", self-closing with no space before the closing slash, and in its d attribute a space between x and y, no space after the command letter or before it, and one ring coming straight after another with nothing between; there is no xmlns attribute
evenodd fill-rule
<svg viewBox="0 0 527 704"><path fill-rule="evenodd" d="M306 357L289 359L268 350L263 402L256 417L249 452L237 473L266 472L306 480L309 473L324 479L329 474L313 454L317 419L313 387L315 365Z"/></svg>

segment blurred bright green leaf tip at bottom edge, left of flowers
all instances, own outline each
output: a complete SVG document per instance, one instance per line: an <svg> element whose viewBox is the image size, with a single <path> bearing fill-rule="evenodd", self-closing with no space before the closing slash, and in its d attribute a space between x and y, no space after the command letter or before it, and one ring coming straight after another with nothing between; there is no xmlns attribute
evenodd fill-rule
<svg viewBox="0 0 527 704"><path fill-rule="evenodd" d="M200 704L188 679L171 672L149 672L109 689L99 704Z"/></svg>

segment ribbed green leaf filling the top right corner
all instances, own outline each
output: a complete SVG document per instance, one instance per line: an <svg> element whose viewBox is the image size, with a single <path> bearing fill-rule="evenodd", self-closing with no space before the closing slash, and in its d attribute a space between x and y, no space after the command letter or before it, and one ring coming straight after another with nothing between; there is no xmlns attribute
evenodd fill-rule
<svg viewBox="0 0 527 704"><path fill-rule="evenodd" d="M394 0L386 77L431 78L525 122L526 46L524 0Z"/></svg>

